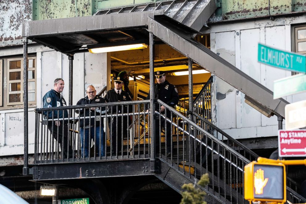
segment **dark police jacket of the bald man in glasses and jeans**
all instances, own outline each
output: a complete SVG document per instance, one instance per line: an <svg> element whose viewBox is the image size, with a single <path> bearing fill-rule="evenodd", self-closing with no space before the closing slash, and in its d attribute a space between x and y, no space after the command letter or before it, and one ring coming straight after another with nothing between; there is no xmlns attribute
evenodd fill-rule
<svg viewBox="0 0 306 204"><path fill-rule="evenodd" d="M86 96L85 98L80 99L77 102L77 105L87 105L87 104L97 104L97 103L105 103L104 98L101 98L99 96L96 96L93 99L89 99L88 96ZM105 106L100 108L96 108L95 110L91 110L90 108L86 108L85 109L85 114L84 114L84 108L81 109L76 109L76 113L80 113L80 117L85 117L89 116L89 111L90 111L90 116L94 116L95 115L95 111L96 111L96 116L100 115L100 110L102 111L101 114L105 113ZM84 127L84 120L80 119L80 127ZM91 118L90 119L90 126L94 126L95 125L95 118ZM89 119L85 119L85 127L89 126ZM100 121L96 121L96 127L100 126ZM101 127L103 127L103 119L101 119Z"/></svg>

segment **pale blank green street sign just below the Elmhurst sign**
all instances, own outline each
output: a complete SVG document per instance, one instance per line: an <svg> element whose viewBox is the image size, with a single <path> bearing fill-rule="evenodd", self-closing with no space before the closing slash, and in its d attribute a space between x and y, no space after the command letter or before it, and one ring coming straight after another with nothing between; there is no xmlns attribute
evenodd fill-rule
<svg viewBox="0 0 306 204"><path fill-rule="evenodd" d="M273 87L273 99L306 91L306 74L276 80Z"/></svg>

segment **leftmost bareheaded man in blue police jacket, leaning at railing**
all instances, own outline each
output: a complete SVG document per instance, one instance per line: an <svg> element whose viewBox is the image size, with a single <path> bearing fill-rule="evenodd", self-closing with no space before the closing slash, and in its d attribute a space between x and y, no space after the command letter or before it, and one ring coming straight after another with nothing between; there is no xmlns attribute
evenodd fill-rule
<svg viewBox="0 0 306 204"><path fill-rule="evenodd" d="M51 89L43 96L43 107L44 108L50 108L50 107L60 107L60 106L66 106L66 101L64 97L60 94L64 90L64 80L61 78L57 78L54 80L54 89ZM53 112L53 118L52 118L52 112ZM67 110L53 110L53 111L44 111L43 115L45 119L57 119L59 117L60 119L68 118L68 111ZM58 137L58 143L60 145L61 151L63 151L64 158L67 158L67 143L68 143L68 121L49 121L48 122L48 129L51 132L53 138L57 139ZM53 128L52 128L53 127ZM64 129L64 134L63 134ZM63 141L64 140L64 141ZM64 146L62 147L62 143ZM70 142L68 144L69 148L69 158L72 157L72 148L70 145ZM59 151L59 150L58 150Z"/></svg>

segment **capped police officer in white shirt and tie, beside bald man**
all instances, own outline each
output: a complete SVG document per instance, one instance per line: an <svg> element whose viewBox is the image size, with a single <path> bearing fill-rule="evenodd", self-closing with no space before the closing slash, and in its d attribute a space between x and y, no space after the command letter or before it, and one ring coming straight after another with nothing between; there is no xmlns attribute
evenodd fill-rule
<svg viewBox="0 0 306 204"><path fill-rule="evenodd" d="M121 77L114 77L114 86L115 88L112 90L107 91L106 96L104 97L106 102L121 102L121 101L131 101L130 95L122 90L122 85L123 85L123 80ZM109 107L111 110L111 107ZM112 113L113 116L116 116L116 111L117 108L116 106L112 106ZM129 112L131 111L131 107L129 107ZM123 106L123 113L127 113L127 105ZM123 121L122 121L122 106L118 106L118 117L114 117L113 119L110 119L108 121L108 127L111 130L111 142L112 142L112 153L115 153L115 151L119 152L121 150L121 145L122 145L122 136L127 136L127 121L129 117L123 116ZM116 126L117 120L118 119L118 127ZM122 126L123 122L123 126ZM130 121L129 121L130 124ZM111 128L112 126L112 128ZM122 129L123 128L123 129ZM117 131L116 131L117 129ZM123 135L122 135L123 132ZM116 138L117 138L117 143L118 143L118 149L116 149ZM116 153L115 153L116 154Z"/></svg>

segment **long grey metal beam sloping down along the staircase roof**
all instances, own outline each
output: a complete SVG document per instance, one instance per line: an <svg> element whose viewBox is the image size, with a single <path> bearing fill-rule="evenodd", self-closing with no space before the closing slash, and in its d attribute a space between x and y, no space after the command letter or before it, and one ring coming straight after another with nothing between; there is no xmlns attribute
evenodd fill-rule
<svg viewBox="0 0 306 204"><path fill-rule="evenodd" d="M172 26L171 23L162 24L154 19L149 19L149 31L177 51L190 57L209 72L246 94L248 98L258 102L262 107L283 118L285 117L285 105L289 102L283 98L274 100L271 90L210 51L204 45L193 40L191 34L186 34L186 32Z"/></svg>

